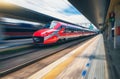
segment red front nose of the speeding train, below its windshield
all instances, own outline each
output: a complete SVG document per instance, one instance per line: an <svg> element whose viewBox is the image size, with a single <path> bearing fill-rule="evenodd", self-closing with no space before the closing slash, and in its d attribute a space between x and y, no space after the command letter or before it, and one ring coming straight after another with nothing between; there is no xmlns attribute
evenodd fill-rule
<svg viewBox="0 0 120 79"><path fill-rule="evenodd" d="M54 29L41 29L33 34L35 44L52 44L58 41L57 31Z"/></svg>

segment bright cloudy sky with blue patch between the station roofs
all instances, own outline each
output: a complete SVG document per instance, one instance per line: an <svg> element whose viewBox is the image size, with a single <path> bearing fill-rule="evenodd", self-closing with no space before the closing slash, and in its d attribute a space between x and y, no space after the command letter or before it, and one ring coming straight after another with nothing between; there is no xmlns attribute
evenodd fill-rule
<svg viewBox="0 0 120 79"><path fill-rule="evenodd" d="M50 15L71 23L90 23L68 0L5 0L33 11Z"/></svg>

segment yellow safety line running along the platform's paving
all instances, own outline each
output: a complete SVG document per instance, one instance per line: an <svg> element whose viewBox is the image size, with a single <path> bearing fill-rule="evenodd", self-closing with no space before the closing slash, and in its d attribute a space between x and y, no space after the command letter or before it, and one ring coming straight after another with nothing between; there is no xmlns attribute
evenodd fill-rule
<svg viewBox="0 0 120 79"><path fill-rule="evenodd" d="M95 37L96 38L96 37ZM76 53L74 53L72 56L70 56L68 59L66 59L64 62L58 64L54 69L52 69L50 72L48 72L46 75L44 75L41 79L55 79L72 61L75 59L76 56L78 56L80 53L82 53L83 50L86 49L94 40L88 41L85 46L78 49Z"/></svg>

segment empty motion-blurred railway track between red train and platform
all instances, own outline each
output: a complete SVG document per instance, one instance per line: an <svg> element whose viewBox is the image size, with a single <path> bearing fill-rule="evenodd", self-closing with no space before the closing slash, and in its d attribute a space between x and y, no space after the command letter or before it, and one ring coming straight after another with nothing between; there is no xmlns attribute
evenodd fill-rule
<svg viewBox="0 0 120 79"><path fill-rule="evenodd" d="M87 40L87 37L82 40L71 41L62 45L54 45L48 48L36 49L35 51L31 51L29 53L23 55L17 55L5 60L1 60L0 64L0 76L5 76L8 73L21 69L25 66L28 66L34 62L42 60L48 56L54 55L60 51L64 51L65 49L70 47L74 47L74 45L78 45L80 42Z"/></svg>

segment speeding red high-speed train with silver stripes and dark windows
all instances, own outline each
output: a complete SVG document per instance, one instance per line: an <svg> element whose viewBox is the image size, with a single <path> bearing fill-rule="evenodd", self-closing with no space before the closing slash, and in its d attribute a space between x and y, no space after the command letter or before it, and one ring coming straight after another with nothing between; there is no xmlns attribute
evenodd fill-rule
<svg viewBox="0 0 120 79"><path fill-rule="evenodd" d="M77 25L52 21L43 29L34 32L33 41L35 44L52 44L59 41L65 41L68 39L94 34L95 32Z"/></svg>

